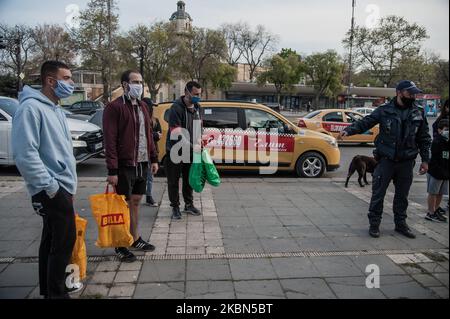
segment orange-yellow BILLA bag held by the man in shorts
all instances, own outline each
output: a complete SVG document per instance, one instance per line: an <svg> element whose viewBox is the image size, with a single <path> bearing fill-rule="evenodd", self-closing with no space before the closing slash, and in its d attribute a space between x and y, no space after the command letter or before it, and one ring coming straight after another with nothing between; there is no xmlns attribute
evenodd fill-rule
<svg viewBox="0 0 450 319"><path fill-rule="evenodd" d="M109 193L109 185L104 194L89 197L92 213L98 226L100 248L130 247L134 240L130 234L130 210L125 196Z"/></svg>

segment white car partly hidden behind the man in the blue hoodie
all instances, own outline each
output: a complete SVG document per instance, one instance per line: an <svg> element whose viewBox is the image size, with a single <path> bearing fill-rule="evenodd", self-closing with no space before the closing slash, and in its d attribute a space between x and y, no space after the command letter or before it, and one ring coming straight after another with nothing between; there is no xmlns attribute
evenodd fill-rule
<svg viewBox="0 0 450 319"><path fill-rule="evenodd" d="M19 107L16 99L0 97L0 165L14 165L11 147L12 117ZM103 152L103 132L97 125L67 118L73 153L78 163Z"/></svg>

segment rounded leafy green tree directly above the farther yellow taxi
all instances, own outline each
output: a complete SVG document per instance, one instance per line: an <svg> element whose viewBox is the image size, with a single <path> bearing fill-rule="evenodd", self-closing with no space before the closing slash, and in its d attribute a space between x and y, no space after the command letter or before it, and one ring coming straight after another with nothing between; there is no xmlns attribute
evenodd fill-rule
<svg viewBox="0 0 450 319"><path fill-rule="evenodd" d="M306 57L304 71L315 89L315 108L319 106L321 96L333 98L342 91L342 70L339 55L333 50Z"/></svg>

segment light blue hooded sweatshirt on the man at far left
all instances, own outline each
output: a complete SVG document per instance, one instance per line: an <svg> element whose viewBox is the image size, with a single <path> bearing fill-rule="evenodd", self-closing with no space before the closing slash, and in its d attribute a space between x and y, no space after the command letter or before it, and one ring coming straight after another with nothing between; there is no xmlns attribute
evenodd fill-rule
<svg viewBox="0 0 450 319"><path fill-rule="evenodd" d="M14 161L31 196L63 187L76 193L77 173L66 116L39 90L25 86L12 121Z"/></svg>

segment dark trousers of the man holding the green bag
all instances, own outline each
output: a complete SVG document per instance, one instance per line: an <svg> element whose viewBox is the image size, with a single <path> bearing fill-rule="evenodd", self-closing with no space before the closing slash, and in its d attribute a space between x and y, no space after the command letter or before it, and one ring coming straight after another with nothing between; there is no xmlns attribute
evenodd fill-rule
<svg viewBox="0 0 450 319"><path fill-rule="evenodd" d="M167 186L169 189L170 206L180 207L180 177L183 180L183 199L186 206L194 203L194 194L191 185L189 185L189 170L191 168L190 163L175 164L171 161L170 156L166 157L164 163Z"/></svg>

